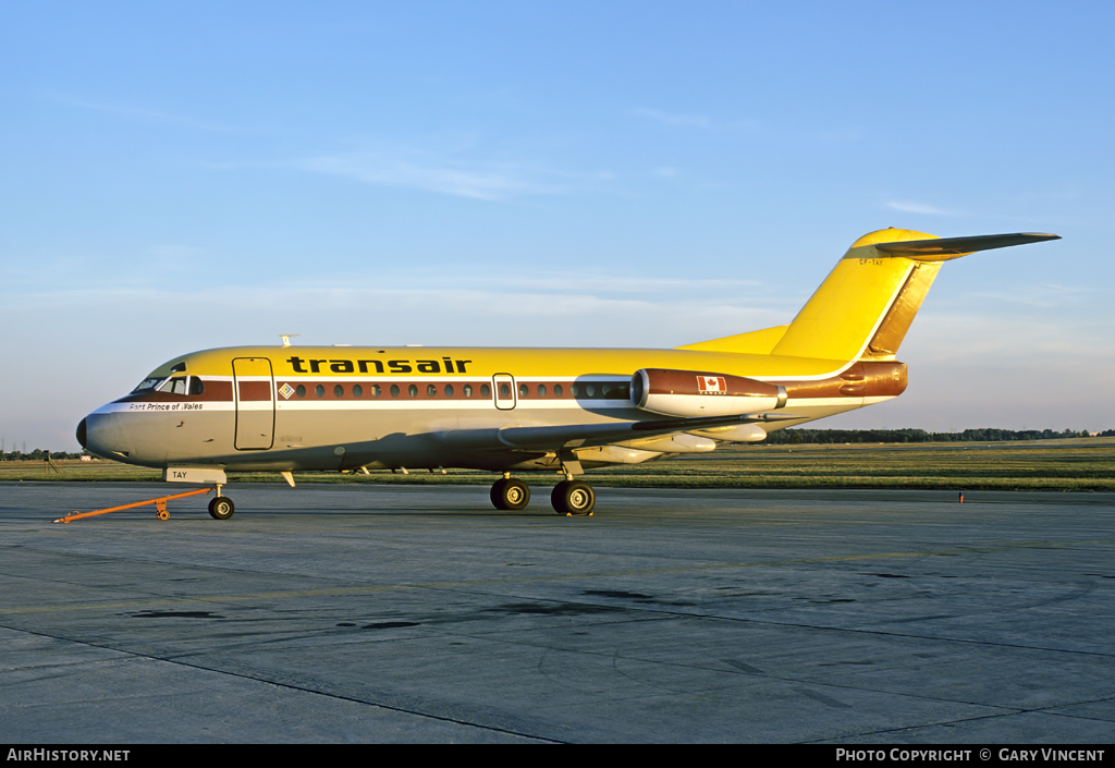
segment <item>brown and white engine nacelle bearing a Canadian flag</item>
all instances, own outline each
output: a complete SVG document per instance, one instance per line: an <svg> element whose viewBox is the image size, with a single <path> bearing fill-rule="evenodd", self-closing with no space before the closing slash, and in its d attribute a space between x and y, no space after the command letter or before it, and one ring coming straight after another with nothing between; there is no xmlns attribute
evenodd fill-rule
<svg viewBox="0 0 1115 768"><path fill-rule="evenodd" d="M786 387L723 373L640 368L631 377L631 402L663 416L739 416L780 409Z"/></svg>

